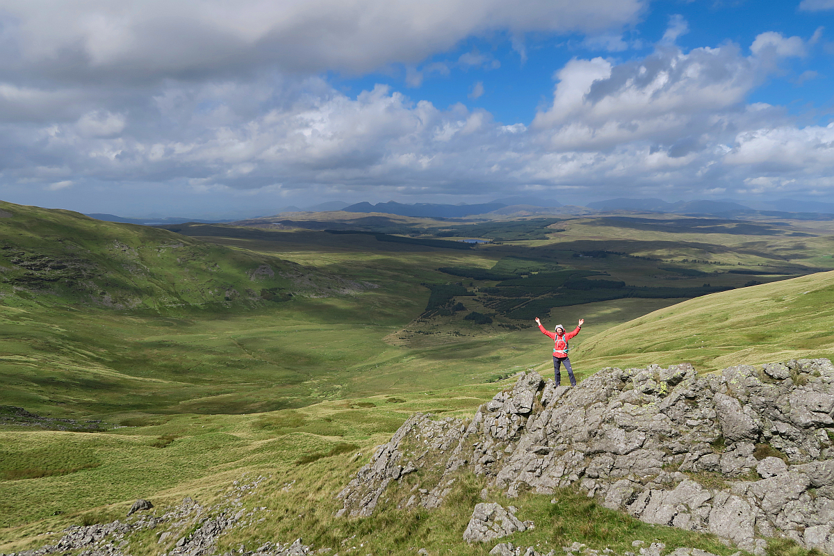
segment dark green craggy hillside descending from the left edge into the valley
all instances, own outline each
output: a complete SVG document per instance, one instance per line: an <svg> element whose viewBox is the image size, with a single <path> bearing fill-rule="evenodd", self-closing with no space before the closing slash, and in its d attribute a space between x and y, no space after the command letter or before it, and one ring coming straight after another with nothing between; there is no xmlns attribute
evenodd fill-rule
<svg viewBox="0 0 834 556"><path fill-rule="evenodd" d="M168 312L207 303L254 306L344 287L326 278L281 258L168 230L0 203L0 298L6 305Z"/></svg>

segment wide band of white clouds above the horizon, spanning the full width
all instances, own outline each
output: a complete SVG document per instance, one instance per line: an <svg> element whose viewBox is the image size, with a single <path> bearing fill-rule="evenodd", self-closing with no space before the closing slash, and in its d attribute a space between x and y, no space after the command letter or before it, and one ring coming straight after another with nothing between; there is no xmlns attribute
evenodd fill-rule
<svg viewBox="0 0 834 556"><path fill-rule="evenodd" d="M514 188L834 193L834 128L801 127L783 108L746 101L773 68L765 54L798 52L792 39L760 35L750 56L732 43L688 52L663 43L625 63L575 58L529 128L460 103L438 108L384 86L352 97L324 78L285 73L171 80L148 88L153 96L119 89L98 106L70 103L63 119L0 121L0 179L68 196L91 183L250 199L466 198ZM449 66L412 68L414 81ZM472 97L483 91L475 83ZM41 93L5 94L24 105Z"/></svg>

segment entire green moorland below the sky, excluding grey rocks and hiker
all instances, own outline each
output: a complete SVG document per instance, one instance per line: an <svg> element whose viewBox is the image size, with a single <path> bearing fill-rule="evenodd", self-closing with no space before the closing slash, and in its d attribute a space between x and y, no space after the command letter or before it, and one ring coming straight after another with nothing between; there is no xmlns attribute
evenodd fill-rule
<svg viewBox="0 0 834 556"><path fill-rule="evenodd" d="M469 416L520 370L545 374L535 317L586 319L578 378L834 353L826 220L335 212L149 228L0 209L0 552L135 498L211 500L244 474L269 477L253 503L272 517L224 546L452 543L469 517L454 506L335 522L333 494L411 413ZM567 493L562 513L520 503L586 543L646 527L571 522Z"/></svg>

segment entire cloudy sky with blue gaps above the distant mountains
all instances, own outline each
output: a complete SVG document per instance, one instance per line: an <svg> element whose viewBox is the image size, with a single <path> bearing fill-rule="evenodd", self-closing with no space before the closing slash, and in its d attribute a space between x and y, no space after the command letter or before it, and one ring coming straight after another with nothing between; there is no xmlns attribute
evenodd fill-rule
<svg viewBox="0 0 834 556"><path fill-rule="evenodd" d="M0 198L834 202L834 0L0 0Z"/></svg>

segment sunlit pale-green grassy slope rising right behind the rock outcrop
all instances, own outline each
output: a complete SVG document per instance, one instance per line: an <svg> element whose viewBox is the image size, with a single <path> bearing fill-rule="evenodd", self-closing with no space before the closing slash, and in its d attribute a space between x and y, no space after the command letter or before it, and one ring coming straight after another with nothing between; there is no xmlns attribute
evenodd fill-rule
<svg viewBox="0 0 834 556"><path fill-rule="evenodd" d="M834 358L832 324L834 272L816 273L662 308L595 335L575 358L591 368L688 361L705 371Z"/></svg>

